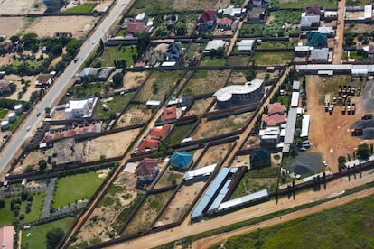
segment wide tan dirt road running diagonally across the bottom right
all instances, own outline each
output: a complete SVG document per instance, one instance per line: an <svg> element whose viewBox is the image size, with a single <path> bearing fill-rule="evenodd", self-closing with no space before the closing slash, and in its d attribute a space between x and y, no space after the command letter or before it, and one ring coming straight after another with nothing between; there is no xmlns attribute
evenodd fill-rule
<svg viewBox="0 0 374 249"><path fill-rule="evenodd" d="M366 184L374 180L374 174L365 172L362 175L362 178L354 179L351 177L351 181L348 181L347 178L334 180L327 184L326 190L321 191L304 191L296 194L295 200L293 198L280 198L278 204L274 200L267 201L265 203L258 204L256 206L243 208L236 212L229 213L228 215L212 218L210 220L203 220L199 223L192 224L190 226L175 227L173 229L168 229L163 232L155 233L153 235L145 235L143 237L130 240L121 244L116 244L110 248L152 248L161 244L166 244L173 242L175 240L182 239L191 235L198 235L206 231L210 231L215 228L229 226L231 224L238 223L240 221L248 220L254 217L261 217L267 214L274 213L279 210L284 210L287 208L294 208L303 204L310 202L332 198L333 196L339 195L342 193L342 190L351 189L358 187L360 185ZM349 201L355 196L348 196L346 201ZM345 199L344 198L344 199ZM324 208L331 208L336 205L340 205L339 200L332 200L330 202L323 203L317 206L317 210L323 210ZM309 208L308 208L309 209ZM314 209L313 209L314 210ZM304 215L306 209L301 211L301 213L296 213L297 215ZM292 214L289 215L292 218ZM268 225L272 225L269 221Z"/></svg>

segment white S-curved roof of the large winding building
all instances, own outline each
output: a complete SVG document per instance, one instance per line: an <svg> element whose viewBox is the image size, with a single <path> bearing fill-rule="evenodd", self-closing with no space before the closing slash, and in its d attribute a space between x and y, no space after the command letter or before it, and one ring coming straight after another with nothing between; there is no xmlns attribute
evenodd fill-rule
<svg viewBox="0 0 374 249"><path fill-rule="evenodd" d="M233 94L248 94L256 91L261 87L263 82L264 80L262 79L253 79L245 85L231 85L225 88L220 88L220 90L215 92L213 96L217 97L218 101L228 101Z"/></svg>

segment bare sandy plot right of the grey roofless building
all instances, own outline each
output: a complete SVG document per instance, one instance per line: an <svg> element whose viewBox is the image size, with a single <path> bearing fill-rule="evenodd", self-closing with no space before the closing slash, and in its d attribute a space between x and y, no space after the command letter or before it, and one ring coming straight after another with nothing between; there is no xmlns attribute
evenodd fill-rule
<svg viewBox="0 0 374 249"><path fill-rule="evenodd" d="M122 155L139 132L140 129L128 130L82 142L84 161L98 161L103 157L113 158Z"/></svg>

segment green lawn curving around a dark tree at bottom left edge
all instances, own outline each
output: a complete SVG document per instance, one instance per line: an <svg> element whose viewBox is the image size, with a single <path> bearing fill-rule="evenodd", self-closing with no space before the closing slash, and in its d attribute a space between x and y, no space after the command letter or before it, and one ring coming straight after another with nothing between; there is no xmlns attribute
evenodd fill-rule
<svg viewBox="0 0 374 249"><path fill-rule="evenodd" d="M51 223L43 224L40 226L33 226L30 229L22 231L22 248L47 248L47 240L45 236L53 229L60 227L65 233L69 230L73 224L74 218L68 217L60 220L53 221ZM27 236L28 235L28 236Z"/></svg>

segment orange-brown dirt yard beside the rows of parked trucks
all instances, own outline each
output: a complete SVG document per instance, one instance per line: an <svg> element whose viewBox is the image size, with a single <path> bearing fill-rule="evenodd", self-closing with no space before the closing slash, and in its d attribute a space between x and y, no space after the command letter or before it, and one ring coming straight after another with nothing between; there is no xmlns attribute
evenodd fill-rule
<svg viewBox="0 0 374 249"><path fill-rule="evenodd" d="M352 154L363 143L360 138L351 136L351 124L360 119L363 112L360 105L356 105L356 115L341 115L340 107L336 107L332 115L325 113L324 106L318 104L321 98L318 96L318 88L323 84L321 81L318 76L306 78L308 114L311 115L309 141L313 144L310 152L320 152L332 171L337 172L338 157ZM360 103L360 99L355 102Z"/></svg>

